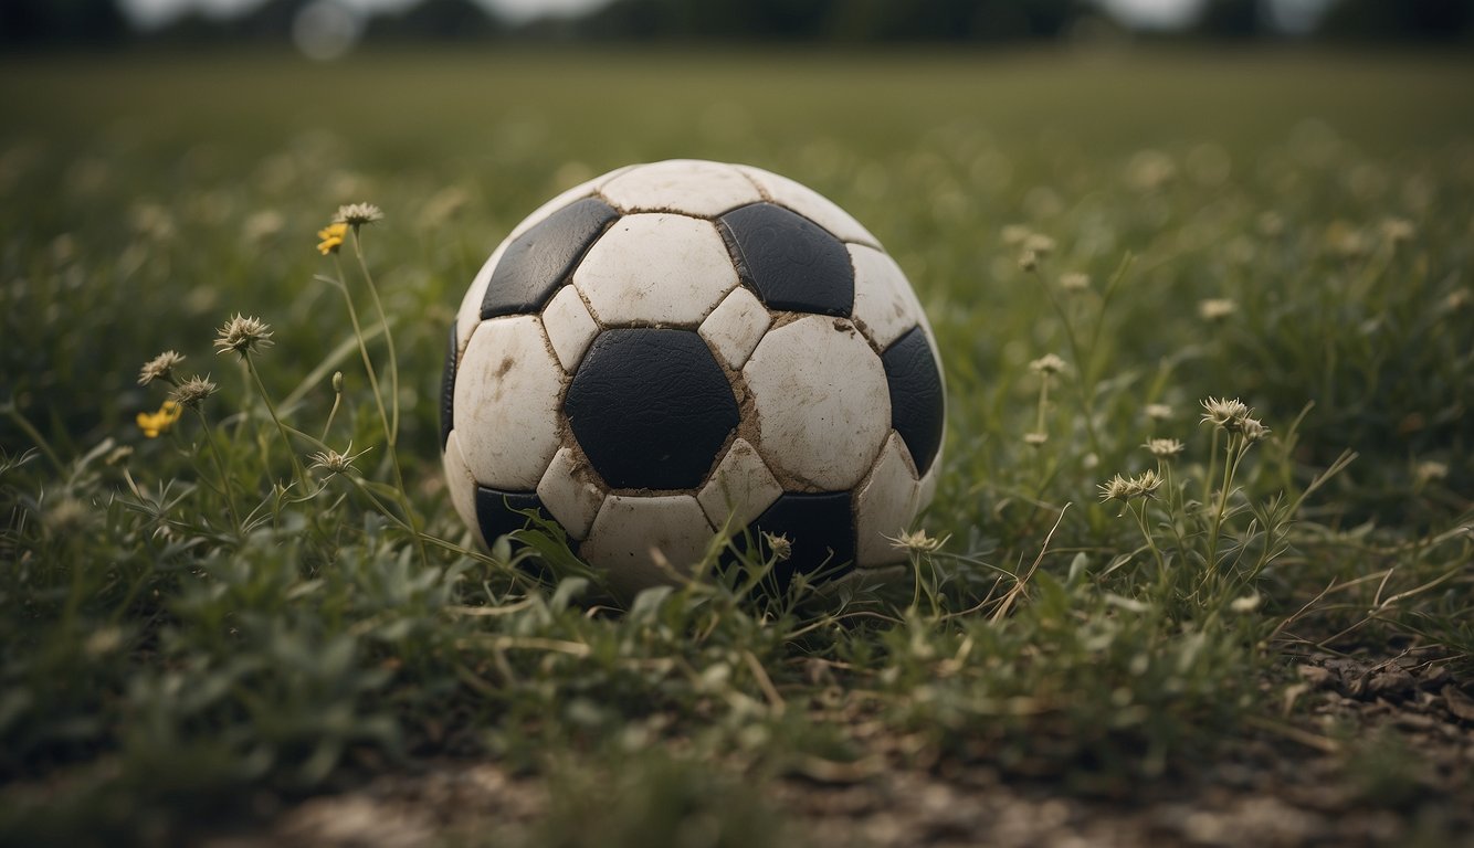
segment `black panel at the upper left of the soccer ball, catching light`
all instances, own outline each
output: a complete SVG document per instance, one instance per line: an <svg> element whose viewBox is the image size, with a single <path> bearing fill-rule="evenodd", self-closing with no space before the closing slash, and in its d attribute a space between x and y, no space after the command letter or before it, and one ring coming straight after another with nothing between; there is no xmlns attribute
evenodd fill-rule
<svg viewBox="0 0 1474 848"><path fill-rule="evenodd" d="M481 302L482 319L541 309L594 239L618 216L609 203L585 197L517 236L491 272Z"/></svg>

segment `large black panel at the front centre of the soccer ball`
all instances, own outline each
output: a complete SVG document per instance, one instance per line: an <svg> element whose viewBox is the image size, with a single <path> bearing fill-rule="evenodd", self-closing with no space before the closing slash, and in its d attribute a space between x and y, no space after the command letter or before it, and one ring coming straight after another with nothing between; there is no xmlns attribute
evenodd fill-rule
<svg viewBox="0 0 1474 848"><path fill-rule="evenodd" d="M606 330L573 375L563 411L615 489L694 489L737 428L737 399L691 330Z"/></svg>

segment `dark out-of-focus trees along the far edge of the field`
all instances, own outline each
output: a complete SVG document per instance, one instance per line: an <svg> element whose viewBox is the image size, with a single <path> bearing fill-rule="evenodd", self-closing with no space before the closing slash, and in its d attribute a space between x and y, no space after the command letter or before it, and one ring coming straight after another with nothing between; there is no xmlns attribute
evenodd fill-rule
<svg viewBox="0 0 1474 848"><path fill-rule="evenodd" d="M265 0L242 15L190 12L136 31L118 0L0 0L0 44L283 43L302 10L333 0ZM1157 37L1278 37L1271 0L1209 0L1188 28ZM475 0L422 0L370 16L361 38L392 41L1051 41L1089 21L1120 28L1095 0L610 0L581 16L511 25ZM1474 0L1332 0L1306 37L1350 43L1471 43Z"/></svg>

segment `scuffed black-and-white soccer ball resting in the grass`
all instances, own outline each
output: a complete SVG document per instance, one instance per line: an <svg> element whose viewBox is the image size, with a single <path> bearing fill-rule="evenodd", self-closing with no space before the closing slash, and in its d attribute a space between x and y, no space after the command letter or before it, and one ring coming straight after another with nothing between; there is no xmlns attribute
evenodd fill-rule
<svg viewBox="0 0 1474 848"><path fill-rule="evenodd" d="M622 595L718 533L774 577L883 576L930 502L945 395L901 268L845 211L744 165L634 165L554 197L472 281L441 445L482 543L557 521Z"/></svg>

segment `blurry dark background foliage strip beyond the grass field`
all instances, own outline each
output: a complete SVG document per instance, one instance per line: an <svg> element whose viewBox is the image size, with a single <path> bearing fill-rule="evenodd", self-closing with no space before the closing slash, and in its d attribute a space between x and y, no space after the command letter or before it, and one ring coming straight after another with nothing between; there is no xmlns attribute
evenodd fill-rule
<svg viewBox="0 0 1474 848"><path fill-rule="evenodd" d="M304 35L343 46L416 41L725 41L806 44L1007 44L1142 38L1218 41L1468 44L1470 0L1191 0L1169 24L1129 0L588 0L581 10L523 10L498 0L236 0L175 3L156 18L147 0L6 0L0 44L286 44ZM526 6L522 3L519 6ZM1157 4L1170 6L1170 4Z"/></svg>

